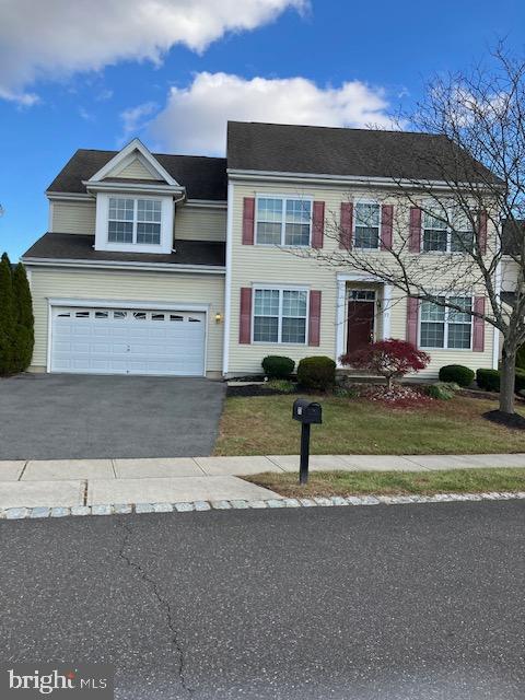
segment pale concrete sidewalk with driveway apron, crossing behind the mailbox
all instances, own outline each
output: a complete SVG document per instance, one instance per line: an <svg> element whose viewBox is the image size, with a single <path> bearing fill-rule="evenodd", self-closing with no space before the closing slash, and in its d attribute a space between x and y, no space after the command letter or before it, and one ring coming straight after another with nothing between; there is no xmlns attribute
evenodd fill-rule
<svg viewBox="0 0 525 700"><path fill-rule="evenodd" d="M312 455L312 470L525 467L525 454ZM238 478L296 471L298 455L0 462L0 509L281 498Z"/></svg>

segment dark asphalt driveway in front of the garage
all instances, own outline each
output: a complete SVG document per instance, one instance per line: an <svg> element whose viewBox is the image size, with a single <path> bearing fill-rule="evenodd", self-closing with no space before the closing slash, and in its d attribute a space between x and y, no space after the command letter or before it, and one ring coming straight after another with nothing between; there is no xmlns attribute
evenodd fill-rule
<svg viewBox="0 0 525 700"><path fill-rule="evenodd" d="M225 387L205 378L0 380L0 459L210 455Z"/></svg>

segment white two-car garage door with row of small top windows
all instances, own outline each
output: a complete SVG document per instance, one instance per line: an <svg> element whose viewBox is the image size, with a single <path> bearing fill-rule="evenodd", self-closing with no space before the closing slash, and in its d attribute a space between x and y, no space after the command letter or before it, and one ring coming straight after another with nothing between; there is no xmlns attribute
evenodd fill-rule
<svg viewBox="0 0 525 700"><path fill-rule="evenodd" d="M54 308L51 372L205 374L206 314Z"/></svg>

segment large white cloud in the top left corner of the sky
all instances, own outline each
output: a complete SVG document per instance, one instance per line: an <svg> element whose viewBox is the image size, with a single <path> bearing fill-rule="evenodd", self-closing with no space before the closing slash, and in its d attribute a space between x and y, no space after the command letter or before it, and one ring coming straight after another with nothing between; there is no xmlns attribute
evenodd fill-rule
<svg viewBox="0 0 525 700"><path fill-rule="evenodd" d="M226 32L275 20L308 0L1 0L0 97L25 85L121 60L160 62L175 44L202 51Z"/></svg>

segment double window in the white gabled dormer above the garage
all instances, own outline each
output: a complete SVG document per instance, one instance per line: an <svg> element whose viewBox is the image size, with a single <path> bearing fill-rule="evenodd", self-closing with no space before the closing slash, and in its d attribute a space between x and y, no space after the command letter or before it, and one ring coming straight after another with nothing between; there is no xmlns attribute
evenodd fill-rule
<svg viewBox="0 0 525 700"><path fill-rule="evenodd" d="M161 243L160 199L109 197L107 240L109 243Z"/></svg>

